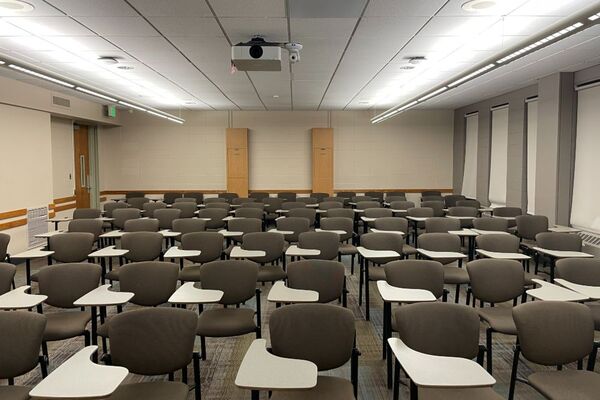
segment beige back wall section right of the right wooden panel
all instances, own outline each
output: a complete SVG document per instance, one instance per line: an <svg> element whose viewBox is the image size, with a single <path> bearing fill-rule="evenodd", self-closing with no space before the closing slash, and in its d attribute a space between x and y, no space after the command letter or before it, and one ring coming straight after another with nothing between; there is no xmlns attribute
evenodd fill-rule
<svg viewBox="0 0 600 400"><path fill-rule="evenodd" d="M376 125L370 117L331 113L336 189L452 187L452 111L408 111Z"/></svg>

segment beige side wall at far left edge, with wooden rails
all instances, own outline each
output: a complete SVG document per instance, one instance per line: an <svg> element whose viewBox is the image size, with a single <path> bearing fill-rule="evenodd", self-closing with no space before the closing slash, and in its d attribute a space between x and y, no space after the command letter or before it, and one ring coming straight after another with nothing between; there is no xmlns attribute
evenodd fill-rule
<svg viewBox="0 0 600 400"><path fill-rule="evenodd" d="M0 212L48 206L53 199L50 114L0 105L0 121ZM26 225L3 232L11 235L11 253L27 247Z"/></svg>

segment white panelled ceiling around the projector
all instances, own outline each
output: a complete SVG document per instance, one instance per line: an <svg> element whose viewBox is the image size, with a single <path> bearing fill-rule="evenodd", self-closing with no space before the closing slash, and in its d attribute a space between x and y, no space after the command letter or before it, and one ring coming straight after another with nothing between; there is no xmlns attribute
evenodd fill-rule
<svg viewBox="0 0 600 400"><path fill-rule="evenodd" d="M27 1L33 12L0 17L0 53L165 110L383 110L600 5L500 0L493 12L474 15L461 9L466 0ZM600 63L599 32L578 33L420 107L456 108ZM301 61L281 72L232 74L231 44L255 34L302 43ZM104 65L100 56L133 69ZM427 61L405 70L408 56Z"/></svg>

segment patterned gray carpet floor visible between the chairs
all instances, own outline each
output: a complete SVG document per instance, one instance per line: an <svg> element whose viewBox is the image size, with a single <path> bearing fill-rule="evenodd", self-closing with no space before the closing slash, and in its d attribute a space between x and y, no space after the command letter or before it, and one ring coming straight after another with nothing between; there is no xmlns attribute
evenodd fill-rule
<svg viewBox="0 0 600 400"><path fill-rule="evenodd" d="M386 365L381 359L381 334L382 334L382 300L379 297L376 286L371 283L371 321L365 321L364 306L358 307L358 275L350 275L350 259L344 260L347 266L348 275L348 308L354 312L356 316L356 332L357 345L362 353L359 359L359 395L361 399L391 399L392 393L386 387ZM39 265L34 265L34 271L39 268ZM17 286L23 285L25 282L24 268L20 266L17 274ZM270 288L270 284L259 286L262 289L262 332L263 337L269 338L269 315L275 309L275 305L266 301L266 295ZM453 300L454 288L449 287L449 301ZM34 291L35 291L34 284ZM465 301L464 291L461 293L461 302ZM248 306L253 307L253 303L248 303ZM510 306L498 305L498 306ZM125 310L132 309L127 306ZM48 309L45 312L52 312ZM115 312L110 310L109 314ZM485 327L481 330L481 343L485 340ZM201 362L201 381L202 381L202 398L203 399L248 399L250 393L246 390L237 388L234 385L235 376L240 362L245 354L246 349L254 339L254 335L246 335L237 338L225 339L207 339L207 360ZM494 377L497 383L494 389L506 398L508 393L508 383L510 378L510 369L512 363L512 346L514 337L501 334L494 335ZM50 372L60 365L64 360L70 357L83 347L83 339L66 340L62 342L54 342L49 344L50 352ZM199 349L199 340L197 341L197 349ZM572 366L570 366L572 367ZM538 366L533 366L535 369L540 369ZM190 382L189 399L193 399L193 377L192 368L188 369ZM520 363L520 376L527 376L531 369L525 362ZM325 374L350 378L349 363L343 368L328 371ZM404 376L404 374L402 375ZM31 373L17 379L17 384L35 385L39 382L41 376L39 368ZM166 379L166 377L141 377L130 375L127 382L137 382L150 379ZM176 380L180 380L180 374L176 375ZM5 384L6 382L2 382ZM406 386L401 386L401 398L408 398ZM261 393L261 398L266 399L267 393ZM533 389L526 384L517 383L516 398L518 399L541 399Z"/></svg>

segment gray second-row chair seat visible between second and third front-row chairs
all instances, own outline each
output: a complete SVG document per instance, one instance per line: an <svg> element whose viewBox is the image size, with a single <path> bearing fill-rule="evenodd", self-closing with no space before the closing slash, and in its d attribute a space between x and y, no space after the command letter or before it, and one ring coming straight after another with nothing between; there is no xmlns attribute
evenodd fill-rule
<svg viewBox="0 0 600 400"><path fill-rule="evenodd" d="M254 332L254 310L250 308L224 308L205 310L198 317L199 336L226 337Z"/></svg>

